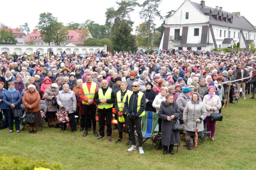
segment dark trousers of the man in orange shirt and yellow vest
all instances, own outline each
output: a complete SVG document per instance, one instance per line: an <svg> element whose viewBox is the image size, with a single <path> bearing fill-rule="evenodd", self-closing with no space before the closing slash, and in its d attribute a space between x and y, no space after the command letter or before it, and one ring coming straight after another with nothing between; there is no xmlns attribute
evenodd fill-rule
<svg viewBox="0 0 256 170"><path fill-rule="evenodd" d="M89 120L89 113L91 113L91 120L93 121L93 130L96 131L96 105L91 104L91 105L83 105L84 107L84 127L85 131L88 129L88 120Z"/></svg>

